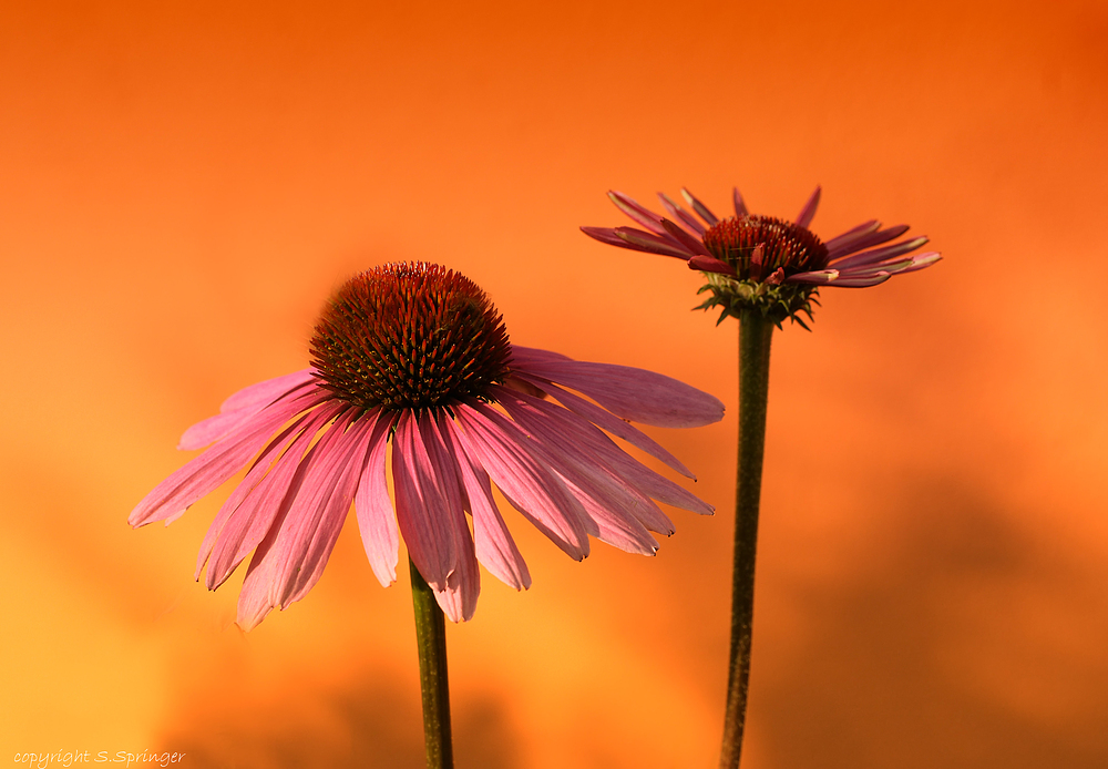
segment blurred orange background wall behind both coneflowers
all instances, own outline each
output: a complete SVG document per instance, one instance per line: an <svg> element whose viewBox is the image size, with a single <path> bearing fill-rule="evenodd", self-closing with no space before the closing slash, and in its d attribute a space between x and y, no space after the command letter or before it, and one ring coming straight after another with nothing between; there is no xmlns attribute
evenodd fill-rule
<svg viewBox="0 0 1108 769"><path fill-rule="evenodd" d="M353 521L247 635L240 576L192 581L227 489L125 519L345 277L429 259L514 341L728 403L652 431L719 507L656 558L511 516L533 588L485 574L449 629L459 767L714 766L736 326L577 226L626 223L609 188L792 217L820 183L817 233L945 259L776 336L743 767L1108 765L1105 6L398 4L0 9L0 763L419 766L407 581Z"/></svg>

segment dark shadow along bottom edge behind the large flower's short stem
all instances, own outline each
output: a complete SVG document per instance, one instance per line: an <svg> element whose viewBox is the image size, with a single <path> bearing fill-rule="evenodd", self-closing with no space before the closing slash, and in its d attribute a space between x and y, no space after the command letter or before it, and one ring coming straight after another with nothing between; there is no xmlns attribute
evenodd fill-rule
<svg viewBox="0 0 1108 769"><path fill-rule="evenodd" d="M218 687L213 681L213 689ZM197 769L421 769L419 693L360 677L338 691L288 691L264 706L243 704L219 712L192 705L186 721L162 740L184 751ZM520 765L516 738L502 705L491 698L452 697L458 769Z"/></svg>

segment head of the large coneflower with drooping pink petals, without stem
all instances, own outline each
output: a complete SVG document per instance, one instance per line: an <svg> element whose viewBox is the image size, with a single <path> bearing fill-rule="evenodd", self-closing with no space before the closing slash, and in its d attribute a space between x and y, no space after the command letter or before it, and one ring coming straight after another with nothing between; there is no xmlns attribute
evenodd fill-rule
<svg viewBox="0 0 1108 769"><path fill-rule="evenodd" d="M649 532L674 531L655 500L712 510L602 429L691 478L628 421L708 424L722 417L719 400L658 373L514 346L484 293L452 270L391 264L355 276L325 309L311 355L310 368L253 384L189 428L178 448L211 448L129 519L168 524L246 469L204 537L196 578L206 565L215 589L253 551L238 602L247 629L311 589L351 504L381 584L397 578L402 535L454 622L473 616L479 562L517 589L531 584L491 483L577 560L589 535L653 554Z"/></svg>

